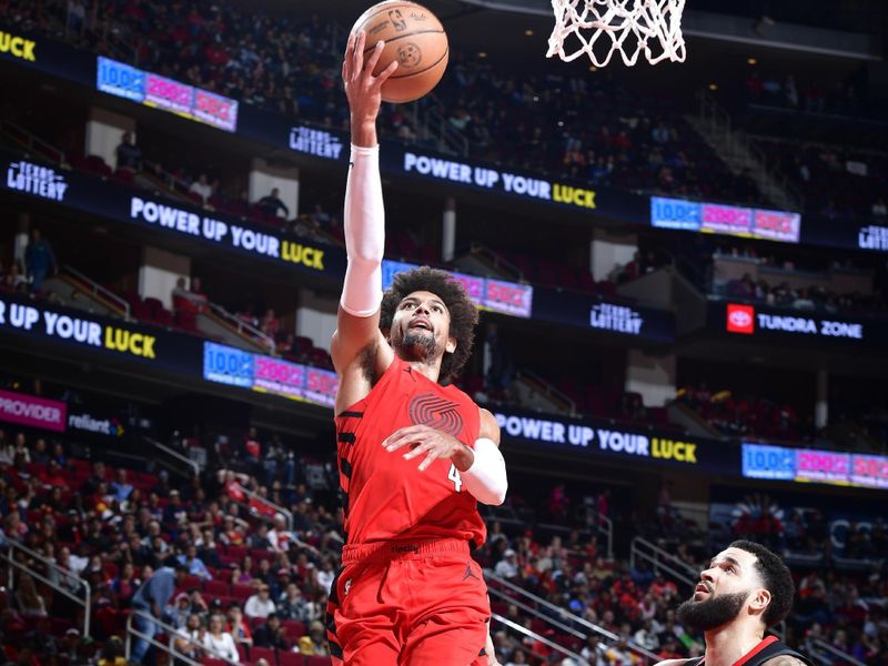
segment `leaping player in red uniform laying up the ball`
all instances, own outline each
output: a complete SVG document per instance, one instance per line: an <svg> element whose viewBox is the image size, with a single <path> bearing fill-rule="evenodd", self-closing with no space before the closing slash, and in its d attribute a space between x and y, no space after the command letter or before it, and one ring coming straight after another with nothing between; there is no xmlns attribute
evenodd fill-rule
<svg viewBox="0 0 888 666"><path fill-rule="evenodd" d="M455 386L477 310L443 271L398 274L383 294L382 185L376 142L382 83L349 39L342 67L352 124L345 190L349 264L331 354L340 377L336 435L347 545L330 594L327 637L356 666L486 664L491 615L472 545L477 502L502 504L500 428Z"/></svg>

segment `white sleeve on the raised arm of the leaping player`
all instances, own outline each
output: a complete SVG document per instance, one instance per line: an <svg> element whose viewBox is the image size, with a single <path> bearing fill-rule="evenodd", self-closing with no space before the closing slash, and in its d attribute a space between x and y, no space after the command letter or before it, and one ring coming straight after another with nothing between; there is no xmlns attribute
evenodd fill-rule
<svg viewBox="0 0 888 666"><path fill-rule="evenodd" d="M371 316L382 303L382 258L385 251L380 147L352 144L350 163L343 215L349 264L340 304L354 316Z"/></svg>

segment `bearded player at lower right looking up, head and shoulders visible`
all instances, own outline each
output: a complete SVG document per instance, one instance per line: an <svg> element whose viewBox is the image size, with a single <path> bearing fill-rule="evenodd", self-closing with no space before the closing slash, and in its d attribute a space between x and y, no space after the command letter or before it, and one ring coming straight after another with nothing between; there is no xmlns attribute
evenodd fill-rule
<svg viewBox="0 0 888 666"><path fill-rule="evenodd" d="M814 666L765 633L793 606L793 575L765 546L736 541L700 573L694 595L676 618L706 637L703 657L667 659L657 666Z"/></svg>

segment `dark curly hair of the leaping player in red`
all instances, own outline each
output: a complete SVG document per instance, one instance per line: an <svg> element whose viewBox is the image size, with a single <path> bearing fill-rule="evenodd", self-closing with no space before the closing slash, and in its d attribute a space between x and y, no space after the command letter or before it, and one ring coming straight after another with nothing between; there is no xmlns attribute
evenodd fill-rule
<svg viewBox="0 0 888 666"><path fill-rule="evenodd" d="M392 327L395 310L407 295L417 291L427 291L444 301L451 315L451 337L456 339L456 351L444 352L441 361L441 376L438 381L450 382L460 375L466 361L472 355L475 343L475 325L478 323L478 310L468 297L463 285L454 280L446 271L438 271L428 266L413 269L406 273L398 273L392 281L392 286L386 290L380 307L380 329L389 331Z"/></svg>

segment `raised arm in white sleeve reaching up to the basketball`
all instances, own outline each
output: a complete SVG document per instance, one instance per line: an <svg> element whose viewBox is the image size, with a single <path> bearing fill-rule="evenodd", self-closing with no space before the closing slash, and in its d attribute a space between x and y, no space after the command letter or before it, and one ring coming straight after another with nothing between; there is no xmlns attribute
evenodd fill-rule
<svg viewBox="0 0 888 666"><path fill-rule="evenodd" d="M330 349L341 380L337 408L362 397L360 393L365 387L354 385L362 383L362 375L384 371L393 359L391 347L380 333L385 212L376 117L382 103L382 84L395 71L397 62L392 62L374 77L373 68L382 54L383 42L379 42L366 59L365 42L364 32L350 36L342 63L342 80L351 111L352 153L343 218L349 264L342 285L337 329ZM363 367L367 364L371 367ZM370 381L370 377L365 379Z"/></svg>

